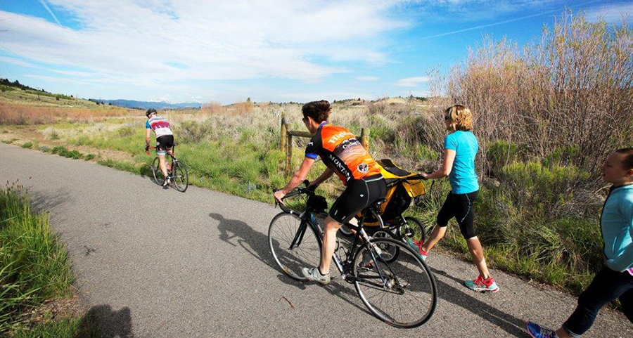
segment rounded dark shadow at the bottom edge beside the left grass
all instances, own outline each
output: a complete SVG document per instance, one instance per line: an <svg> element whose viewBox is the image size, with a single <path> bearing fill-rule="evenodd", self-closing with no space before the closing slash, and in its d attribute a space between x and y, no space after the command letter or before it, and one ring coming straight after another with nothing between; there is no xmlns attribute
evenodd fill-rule
<svg viewBox="0 0 633 338"><path fill-rule="evenodd" d="M79 323L75 337L134 337L131 311L127 306L118 311L108 304L92 306Z"/></svg>

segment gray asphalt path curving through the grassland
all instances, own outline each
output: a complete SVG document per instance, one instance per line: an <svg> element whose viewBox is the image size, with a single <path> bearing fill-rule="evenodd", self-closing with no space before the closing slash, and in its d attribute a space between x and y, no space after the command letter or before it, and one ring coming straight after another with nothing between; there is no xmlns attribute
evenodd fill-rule
<svg viewBox="0 0 633 338"><path fill-rule="evenodd" d="M471 292L461 281L475 275L472 264L433 254L435 316L399 330L373 318L342 280L321 287L281 275L267 243L279 209L269 204L196 187L162 190L146 177L0 144L0 180L18 179L51 211L82 304L108 337L527 337L525 320L558 325L576 303L500 271L501 292ZM633 325L603 309L592 336L632 337Z"/></svg>

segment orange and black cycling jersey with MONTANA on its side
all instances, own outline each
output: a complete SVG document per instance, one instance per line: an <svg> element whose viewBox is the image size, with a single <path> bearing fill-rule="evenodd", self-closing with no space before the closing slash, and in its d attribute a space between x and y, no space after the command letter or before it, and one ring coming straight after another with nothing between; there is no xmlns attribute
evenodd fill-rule
<svg viewBox="0 0 633 338"><path fill-rule="evenodd" d="M333 126L327 122L321 123L316 129L316 134L305 148L305 156L315 160L316 156L320 156L345 186L352 180L381 173L380 166L356 135L342 126Z"/></svg>

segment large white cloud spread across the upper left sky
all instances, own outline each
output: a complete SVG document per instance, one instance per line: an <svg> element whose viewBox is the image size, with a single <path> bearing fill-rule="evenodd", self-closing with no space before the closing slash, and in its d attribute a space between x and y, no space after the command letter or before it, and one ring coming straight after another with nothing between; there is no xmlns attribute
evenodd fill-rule
<svg viewBox="0 0 633 338"><path fill-rule="evenodd" d="M192 79L319 79L347 71L336 62L386 62L378 37L407 27L387 15L393 3L378 0L47 2L80 28L0 11L7 18L0 29L11 32L0 34L0 49L51 70L64 65L95 72L96 82L139 86ZM325 60L317 62L315 56Z"/></svg>

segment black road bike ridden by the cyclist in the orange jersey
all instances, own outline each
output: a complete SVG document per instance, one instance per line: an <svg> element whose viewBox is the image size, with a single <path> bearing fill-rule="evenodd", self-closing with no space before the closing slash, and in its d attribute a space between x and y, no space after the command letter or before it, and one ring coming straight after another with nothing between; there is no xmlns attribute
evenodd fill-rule
<svg viewBox="0 0 633 338"><path fill-rule="evenodd" d="M307 183L304 184L307 187ZM290 278L306 281L301 269L319 266L321 258L323 229L316 222L315 212L322 211L324 197L308 188L297 188L284 199L296 195L308 195L305 211L298 212L279 204L283 211L270 223L268 242L281 271ZM333 263L340 275L333 279L341 278L353 284L363 304L376 318L395 327L418 327L435 312L435 277L409 245L393 238L367 235L364 219L371 214L381 220L379 209L383 202L385 199L364 209L358 226L349 225L356 235L348 249L337 245ZM371 264L363 264L366 254L371 256Z"/></svg>

